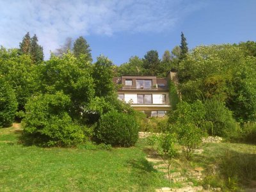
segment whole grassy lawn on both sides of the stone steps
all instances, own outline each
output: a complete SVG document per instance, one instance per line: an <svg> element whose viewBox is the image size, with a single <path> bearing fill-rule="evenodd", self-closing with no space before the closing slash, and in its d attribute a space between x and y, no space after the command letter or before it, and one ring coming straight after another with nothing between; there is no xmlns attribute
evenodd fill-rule
<svg viewBox="0 0 256 192"><path fill-rule="evenodd" d="M145 140L112 150L41 148L19 144L21 132L19 126L0 129L0 191L155 191L169 186L164 173L145 159ZM256 145L211 143L202 148L191 161L176 159L172 171L200 166L206 177L192 180L195 185L256 189L250 186L256 183Z"/></svg>

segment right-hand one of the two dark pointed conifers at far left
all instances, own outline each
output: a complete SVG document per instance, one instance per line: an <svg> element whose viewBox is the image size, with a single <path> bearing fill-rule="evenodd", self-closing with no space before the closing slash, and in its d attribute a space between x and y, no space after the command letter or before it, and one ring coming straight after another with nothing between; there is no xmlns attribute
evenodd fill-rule
<svg viewBox="0 0 256 192"><path fill-rule="evenodd" d="M43 47L38 45L38 39L36 35L31 38L30 54L33 63L38 63L44 60Z"/></svg>

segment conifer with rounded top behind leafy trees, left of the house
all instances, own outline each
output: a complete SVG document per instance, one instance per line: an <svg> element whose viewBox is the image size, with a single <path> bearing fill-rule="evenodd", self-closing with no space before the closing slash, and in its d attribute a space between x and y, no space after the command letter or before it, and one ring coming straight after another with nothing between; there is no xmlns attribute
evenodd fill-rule
<svg viewBox="0 0 256 192"><path fill-rule="evenodd" d="M83 36L79 36L74 42L73 52L74 56L79 57L80 54L85 54L90 61L92 61L90 45L86 42Z"/></svg>

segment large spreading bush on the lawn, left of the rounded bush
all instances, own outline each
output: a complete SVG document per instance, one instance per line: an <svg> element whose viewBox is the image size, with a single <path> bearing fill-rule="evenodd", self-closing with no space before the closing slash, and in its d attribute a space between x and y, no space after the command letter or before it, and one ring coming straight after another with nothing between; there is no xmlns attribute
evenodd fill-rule
<svg viewBox="0 0 256 192"><path fill-rule="evenodd" d="M42 146L70 147L84 141L83 127L72 122L67 111L70 98L61 92L38 95L26 104L24 141Z"/></svg>

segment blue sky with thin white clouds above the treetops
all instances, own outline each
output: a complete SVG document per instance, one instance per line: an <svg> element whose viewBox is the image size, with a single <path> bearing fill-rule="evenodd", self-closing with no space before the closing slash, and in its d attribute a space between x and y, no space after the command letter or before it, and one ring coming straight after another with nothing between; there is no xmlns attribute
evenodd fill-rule
<svg viewBox="0 0 256 192"><path fill-rule="evenodd" d="M45 60L65 39L83 36L93 61L103 54L116 65L150 50L163 56L180 45L256 41L255 0L0 0L0 45L19 47L27 32L38 36Z"/></svg>

